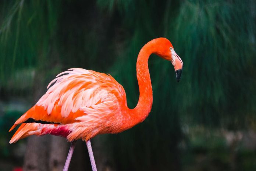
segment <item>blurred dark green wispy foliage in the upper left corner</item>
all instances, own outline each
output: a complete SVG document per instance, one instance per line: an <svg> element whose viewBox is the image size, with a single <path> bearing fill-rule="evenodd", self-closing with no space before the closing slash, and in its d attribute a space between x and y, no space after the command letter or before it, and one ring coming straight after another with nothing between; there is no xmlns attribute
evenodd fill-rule
<svg viewBox="0 0 256 171"><path fill-rule="evenodd" d="M5 6L2 6L4 18L0 27L0 83L6 85L16 71L40 67L48 61L59 2L15 0L2 3Z"/></svg>

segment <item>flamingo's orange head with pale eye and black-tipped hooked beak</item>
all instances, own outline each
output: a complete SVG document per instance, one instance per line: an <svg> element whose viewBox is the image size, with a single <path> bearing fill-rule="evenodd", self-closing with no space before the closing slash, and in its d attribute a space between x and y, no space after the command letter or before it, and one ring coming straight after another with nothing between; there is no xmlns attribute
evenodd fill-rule
<svg viewBox="0 0 256 171"><path fill-rule="evenodd" d="M156 41L156 50L154 54L171 61L176 72L177 82L181 79L181 73L183 69L183 62L178 54L174 51L173 45L166 38L154 39Z"/></svg>

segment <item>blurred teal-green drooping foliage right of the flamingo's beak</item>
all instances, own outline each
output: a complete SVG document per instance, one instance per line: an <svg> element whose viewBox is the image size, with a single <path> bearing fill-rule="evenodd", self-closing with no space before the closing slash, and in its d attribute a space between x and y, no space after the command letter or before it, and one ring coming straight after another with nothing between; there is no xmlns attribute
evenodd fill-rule
<svg viewBox="0 0 256 171"><path fill-rule="evenodd" d="M234 122L255 113L255 17L248 3L185 1L174 25L186 80L181 114L220 125L223 116Z"/></svg>

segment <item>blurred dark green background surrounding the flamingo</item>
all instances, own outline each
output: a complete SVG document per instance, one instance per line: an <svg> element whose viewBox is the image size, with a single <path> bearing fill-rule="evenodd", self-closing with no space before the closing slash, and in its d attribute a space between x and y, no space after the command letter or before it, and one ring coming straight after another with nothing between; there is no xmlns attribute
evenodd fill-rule
<svg viewBox="0 0 256 171"><path fill-rule="evenodd" d="M128 106L139 97L136 58L168 38L184 62L152 55L149 117L92 140L99 171L256 170L255 0L1 0L0 171L61 171L69 143L31 136L8 144L15 120L68 68L111 74ZM91 170L79 141L70 170Z"/></svg>

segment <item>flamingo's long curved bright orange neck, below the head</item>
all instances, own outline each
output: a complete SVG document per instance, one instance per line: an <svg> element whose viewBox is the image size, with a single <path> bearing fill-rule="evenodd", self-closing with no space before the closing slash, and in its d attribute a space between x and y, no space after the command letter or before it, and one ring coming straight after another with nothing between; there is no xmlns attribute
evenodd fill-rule
<svg viewBox="0 0 256 171"><path fill-rule="evenodd" d="M148 67L148 59L153 52L153 43L148 42L142 47L137 59L136 71L139 83L139 101L137 106L133 109L133 113L136 115L136 118L138 118L137 122L145 120L153 103L153 91Z"/></svg>

